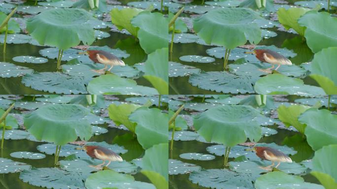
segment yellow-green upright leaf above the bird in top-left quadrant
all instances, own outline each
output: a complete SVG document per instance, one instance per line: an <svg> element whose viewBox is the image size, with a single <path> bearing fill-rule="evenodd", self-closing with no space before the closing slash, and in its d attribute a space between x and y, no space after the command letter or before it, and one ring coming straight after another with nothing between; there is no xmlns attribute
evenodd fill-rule
<svg viewBox="0 0 337 189"><path fill-rule="evenodd" d="M131 19L133 19L137 14L142 11L142 9L138 8L123 8L121 10L119 10L118 8L114 8L110 11L111 22L119 30L126 29L128 32L136 37L138 28L131 25Z"/></svg>

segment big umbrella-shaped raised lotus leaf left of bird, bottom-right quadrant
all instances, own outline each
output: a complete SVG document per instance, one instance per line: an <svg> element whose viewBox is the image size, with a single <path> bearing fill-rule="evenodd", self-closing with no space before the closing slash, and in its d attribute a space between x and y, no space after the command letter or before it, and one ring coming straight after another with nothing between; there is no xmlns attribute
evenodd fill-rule
<svg viewBox="0 0 337 189"><path fill-rule="evenodd" d="M194 128L207 142L233 147L247 138L258 141L261 127L254 121L260 113L250 106L224 105L194 117Z"/></svg>

